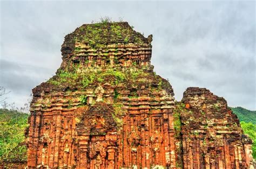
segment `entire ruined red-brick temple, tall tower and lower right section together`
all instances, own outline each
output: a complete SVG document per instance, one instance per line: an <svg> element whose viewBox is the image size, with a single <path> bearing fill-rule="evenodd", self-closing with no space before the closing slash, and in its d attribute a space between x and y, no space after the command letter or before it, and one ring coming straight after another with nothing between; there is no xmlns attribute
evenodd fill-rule
<svg viewBox="0 0 256 169"><path fill-rule="evenodd" d="M152 36L126 22L65 37L56 75L33 89L28 168L250 168L250 138L223 98L174 102L153 72Z"/></svg>

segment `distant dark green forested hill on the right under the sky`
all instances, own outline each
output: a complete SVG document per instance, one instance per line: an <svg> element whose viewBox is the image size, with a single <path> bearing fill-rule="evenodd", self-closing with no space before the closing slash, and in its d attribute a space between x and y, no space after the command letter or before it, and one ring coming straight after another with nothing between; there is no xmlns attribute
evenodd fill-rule
<svg viewBox="0 0 256 169"><path fill-rule="evenodd" d="M244 109L242 107L230 107L233 113L237 114L240 121L245 121L246 123L256 124L256 111L251 111Z"/></svg>

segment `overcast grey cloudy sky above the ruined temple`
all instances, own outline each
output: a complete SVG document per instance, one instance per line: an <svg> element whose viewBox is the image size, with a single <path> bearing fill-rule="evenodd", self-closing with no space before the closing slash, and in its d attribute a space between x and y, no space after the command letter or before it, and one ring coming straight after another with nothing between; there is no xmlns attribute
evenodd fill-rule
<svg viewBox="0 0 256 169"><path fill-rule="evenodd" d="M254 1L1 1L0 86L23 106L60 66L64 36L100 17L153 34L152 64L180 100L206 87L229 106L256 110Z"/></svg>

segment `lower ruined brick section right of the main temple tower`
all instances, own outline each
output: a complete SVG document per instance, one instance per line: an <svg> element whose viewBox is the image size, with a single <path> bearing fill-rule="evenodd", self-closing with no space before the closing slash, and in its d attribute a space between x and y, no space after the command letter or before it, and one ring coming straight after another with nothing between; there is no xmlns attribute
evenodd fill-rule
<svg viewBox="0 0 256 169"><path fill-rule="evenodd" d="M252 141L224 98L189 87L181 102L184 168L253 168Z"/></svg>

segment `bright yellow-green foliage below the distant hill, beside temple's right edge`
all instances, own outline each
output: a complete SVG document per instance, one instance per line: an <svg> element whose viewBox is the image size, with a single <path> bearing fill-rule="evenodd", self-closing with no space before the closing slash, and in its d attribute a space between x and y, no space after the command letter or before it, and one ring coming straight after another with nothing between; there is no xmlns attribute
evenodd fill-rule
<svg viewBox="0 0 256 169"><path fill-rule="evenodd" d="M241 121L241 127L245 134L247 134L252 140L252 156L256 159L256 125L253 123L246 123L245 121Z"/></svg>

